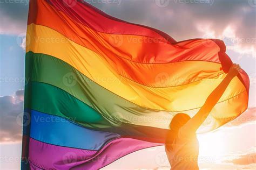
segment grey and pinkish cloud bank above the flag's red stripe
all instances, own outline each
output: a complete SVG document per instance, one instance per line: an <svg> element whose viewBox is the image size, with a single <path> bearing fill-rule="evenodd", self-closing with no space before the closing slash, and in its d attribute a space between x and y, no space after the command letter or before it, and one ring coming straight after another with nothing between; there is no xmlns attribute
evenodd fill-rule
<svg viewBox="0 0 256 170"><path fill-rule="evenodd" d="M95 4L110 15L133 23L145 24L167 32L180 41L192 38L219 38L228 48L255 56L256 8L248 1L199 1L165 0L122 1ZM204 2L204 1L200 1ZM143 6L143 8L142 8Z"/></svg>

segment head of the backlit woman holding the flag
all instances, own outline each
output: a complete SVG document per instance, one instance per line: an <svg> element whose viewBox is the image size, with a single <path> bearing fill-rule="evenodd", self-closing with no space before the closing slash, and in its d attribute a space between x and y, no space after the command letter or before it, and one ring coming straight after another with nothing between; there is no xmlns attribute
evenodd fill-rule
<svg viewBox="0 0 256 170"><path fill-rule="evenodd" d="M190 119L190 116L188 116L187 114L183 114L183 113L177 114L172 118L169 128L172 131L178 131L181 128L181 126L187 123L189 119Z"/></svg>

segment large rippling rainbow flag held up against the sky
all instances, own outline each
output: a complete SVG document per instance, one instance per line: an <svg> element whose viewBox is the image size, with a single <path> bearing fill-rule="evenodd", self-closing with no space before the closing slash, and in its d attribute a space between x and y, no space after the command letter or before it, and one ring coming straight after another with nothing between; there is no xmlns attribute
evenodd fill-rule
<svg viewBox="0 0 256 170"><path fill-rule="evenodd" d="M99 169L163 145L232 65L221 40L177 42L83 1L30 1L27 30L23 169ZM241 70L198 133L244 112L248 91Z"/></svg>

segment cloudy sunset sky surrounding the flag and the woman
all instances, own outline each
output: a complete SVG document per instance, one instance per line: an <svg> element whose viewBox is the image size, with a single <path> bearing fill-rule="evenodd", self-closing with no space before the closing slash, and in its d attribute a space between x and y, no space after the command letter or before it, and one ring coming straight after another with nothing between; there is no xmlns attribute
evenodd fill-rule
<svg viewBox="0 0 256 170"><path fill-rule="evenodd" d="M154 27L177 41L224 40L227 54L250 76L249 108L198 136L200 169L256 168L255 0L87 0L111 16ZM28 0L0 0L0 169L19 169ZM132 162L132 163L131 163ZM104 169L170 169L164 147L123 157Z"/></svg>

